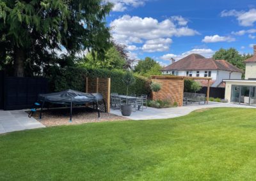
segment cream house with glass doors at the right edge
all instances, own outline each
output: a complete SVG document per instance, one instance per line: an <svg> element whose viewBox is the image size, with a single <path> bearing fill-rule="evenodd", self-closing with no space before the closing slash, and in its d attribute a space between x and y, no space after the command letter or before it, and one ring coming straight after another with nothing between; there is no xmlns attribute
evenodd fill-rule
<svg viewBox="0 0 256 181"><path fill-rule="evenodd" d="M244 80L223 80L226 82L225 99L230 103L256 106L256 45L253 46L253 57L244 63Z"/></svg>

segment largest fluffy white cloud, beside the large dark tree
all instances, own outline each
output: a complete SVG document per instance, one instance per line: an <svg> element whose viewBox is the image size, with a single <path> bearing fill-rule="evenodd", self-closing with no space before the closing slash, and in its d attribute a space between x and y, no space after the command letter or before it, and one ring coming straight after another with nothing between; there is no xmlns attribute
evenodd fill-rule
<svg viewBox="0 0 256 181"><path fill-rule="evenodd" d="M152 17L141 18L124 15L113 20L110 26L113 27L113 38L118 43L125 45L143 43L141 48L143 51L161 52L168 50L172 43L170 39L172 36L194 36L199 34L186 24L186 20L180 16L167 18L159 22ZM161 42L156 43L156 40L161 40Z"/></svg>

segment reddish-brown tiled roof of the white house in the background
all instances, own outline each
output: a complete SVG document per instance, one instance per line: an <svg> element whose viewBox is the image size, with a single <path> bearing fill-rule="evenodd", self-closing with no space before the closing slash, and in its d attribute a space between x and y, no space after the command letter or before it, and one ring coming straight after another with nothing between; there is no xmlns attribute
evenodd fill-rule
<svg viewBox="0 0 256 181"><path fill-rule="evenodd" d="M162 70L224 70L242 72L239 68L227 61L206 59L198 54L190 54L183 59L166 66Z"/></svg>

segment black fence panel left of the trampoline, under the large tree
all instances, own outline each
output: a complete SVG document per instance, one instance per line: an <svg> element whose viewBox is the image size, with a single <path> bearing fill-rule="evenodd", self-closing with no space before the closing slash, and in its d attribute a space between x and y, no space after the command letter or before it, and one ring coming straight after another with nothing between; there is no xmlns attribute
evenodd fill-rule
<svg viewBox="0 0 256 181"><path fill-rule="evenodd" d="M4 77L4 110L30 108L38 94L47 92L46 78Z"/></svg>

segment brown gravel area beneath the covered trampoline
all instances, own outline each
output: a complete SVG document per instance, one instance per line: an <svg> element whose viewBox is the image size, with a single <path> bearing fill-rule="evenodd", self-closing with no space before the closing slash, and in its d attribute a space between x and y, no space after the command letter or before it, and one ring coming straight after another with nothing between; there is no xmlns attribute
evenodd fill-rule
<svg viewBox="0 0 256 181"><path fill-rule="evenodd" d="M116 121L116 120L129 120L118 115L111 113L100 112L100 118L98 118L98 112L90 108L73 108L72 122L69 122L70 109L69 108L56 108L50 110L44 110L42 113L42 119L39 120L40 111L36 111L33 117L40 121L47 127L71 125L71 124L83 124L87 122L104 122L104 121Z"/></svg>

